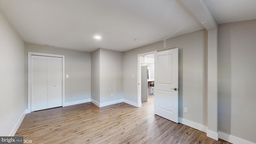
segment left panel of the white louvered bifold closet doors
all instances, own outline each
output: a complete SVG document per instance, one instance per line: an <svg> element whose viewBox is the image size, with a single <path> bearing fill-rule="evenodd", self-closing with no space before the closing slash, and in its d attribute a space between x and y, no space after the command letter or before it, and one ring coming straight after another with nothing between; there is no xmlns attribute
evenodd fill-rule
<svg viewBox="0 0 256 144"><path fill-rule="evenodd" d="M31 56L31 111L48 108L46 56Z"/></svg>

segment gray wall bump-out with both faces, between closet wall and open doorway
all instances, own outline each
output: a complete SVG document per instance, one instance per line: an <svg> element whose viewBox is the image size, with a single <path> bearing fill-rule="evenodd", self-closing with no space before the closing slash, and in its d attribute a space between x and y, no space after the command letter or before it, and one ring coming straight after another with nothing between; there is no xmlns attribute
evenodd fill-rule
<svg viewBox="0 0 256 144"><path fill-rule="evenodd" d="M122 64L123 52L103 48L92 52L91 98L93 100L101 104L123 98Z"/></svg>

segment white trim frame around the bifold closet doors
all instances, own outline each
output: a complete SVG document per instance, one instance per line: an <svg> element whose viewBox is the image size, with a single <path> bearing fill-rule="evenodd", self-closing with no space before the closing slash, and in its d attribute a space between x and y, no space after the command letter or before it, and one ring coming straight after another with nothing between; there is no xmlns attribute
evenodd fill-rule
<svg viewBox="0 0 256 144"><path fill-rule="evenodd" d="M62 106L64 106L64 101L65 101L65 56L57 55L57 54L28 52L28 109L27 109L26 113L31 112L31 55L62 58Z"/></svg>

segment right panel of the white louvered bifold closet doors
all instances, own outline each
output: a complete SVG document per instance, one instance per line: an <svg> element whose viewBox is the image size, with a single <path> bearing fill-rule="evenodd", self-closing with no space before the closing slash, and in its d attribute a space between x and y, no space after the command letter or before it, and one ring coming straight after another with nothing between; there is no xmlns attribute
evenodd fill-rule
<svg viewBox="0 0 256 144"><path fill-rule="evenodd" d="M48 57L48 108L62 106L62 58Z"/></svg>

